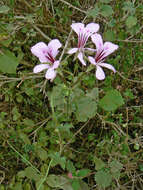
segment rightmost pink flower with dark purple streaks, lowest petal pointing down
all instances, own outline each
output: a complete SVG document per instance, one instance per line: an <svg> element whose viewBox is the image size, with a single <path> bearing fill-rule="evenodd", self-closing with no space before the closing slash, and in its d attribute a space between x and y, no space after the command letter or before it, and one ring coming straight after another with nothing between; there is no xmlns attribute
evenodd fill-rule
<svg viewBox="0 0 143 190"><path fill-rule="evenodd" d="M88 59L91 64L96 66L96 78L98 80L103 80L105 79L105 73L102 69L102 67L106 67L110 70L112 70L114 73L116 72L115 68L110 65L105 63L105 58L113 53L115 50L118 49L118 45L115 45L111 42L105 42L103 44L103 40L100 34L94 34L91 36L91 39L93 43L96 45L96 55L95 57L89 56Z"/></svg>

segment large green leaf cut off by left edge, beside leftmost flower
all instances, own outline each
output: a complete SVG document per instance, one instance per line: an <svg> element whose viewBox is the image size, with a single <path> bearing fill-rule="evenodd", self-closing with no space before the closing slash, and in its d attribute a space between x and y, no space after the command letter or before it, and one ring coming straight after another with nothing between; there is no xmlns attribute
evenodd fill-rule
<svg viewBox="0 0 143 190"><path fill-rule="evenodd" d="M16 73L16 68L19 62L15 55L6 51L5 54L0 55L0 70L4 73Z"/></svg>

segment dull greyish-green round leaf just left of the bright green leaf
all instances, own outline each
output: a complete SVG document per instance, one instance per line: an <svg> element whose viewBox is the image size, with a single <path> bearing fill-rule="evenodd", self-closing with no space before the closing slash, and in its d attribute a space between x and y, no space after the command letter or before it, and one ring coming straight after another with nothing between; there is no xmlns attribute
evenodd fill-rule
<svg viewBox="0 0 143 190"><path fill-rule="evenodd" d="M96 114L97 104L90 97L81 97L75 102L76 118L78 121L85 122Z"/></svg>

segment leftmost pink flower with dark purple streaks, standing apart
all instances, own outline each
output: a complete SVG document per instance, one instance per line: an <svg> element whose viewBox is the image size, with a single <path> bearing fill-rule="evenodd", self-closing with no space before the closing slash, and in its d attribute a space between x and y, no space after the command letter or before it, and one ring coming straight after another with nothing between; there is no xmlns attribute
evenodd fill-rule
<svg viewBox="0 0 143 190"><path fill-rule="evenodd" d="M34 67L33 72L39 73L45 69L47 72L45 74L45 78L51 81L56 77L55 69L59 66L59 61L55 60L55 57L58 54L58 49L62 46L59 40L54 39L51 40L48 46L44 42L39 42L31 48L31 52L37 56L41 63L49 63L49 64L39 64Z"/></svg>

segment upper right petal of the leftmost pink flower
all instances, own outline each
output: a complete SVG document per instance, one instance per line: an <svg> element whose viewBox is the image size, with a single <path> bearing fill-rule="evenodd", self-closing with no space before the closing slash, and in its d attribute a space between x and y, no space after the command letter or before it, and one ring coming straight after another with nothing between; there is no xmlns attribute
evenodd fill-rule
<svg viewBox="0 0 143 190"><path fill-rule="evenodd" d="M58 54L58 49L62 47L62 44L58 39L51 40L48 44L48 52L55 58Z"/></svg>

